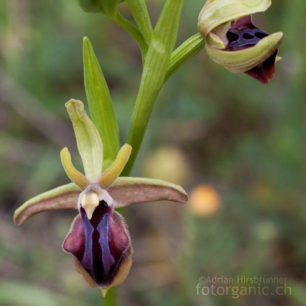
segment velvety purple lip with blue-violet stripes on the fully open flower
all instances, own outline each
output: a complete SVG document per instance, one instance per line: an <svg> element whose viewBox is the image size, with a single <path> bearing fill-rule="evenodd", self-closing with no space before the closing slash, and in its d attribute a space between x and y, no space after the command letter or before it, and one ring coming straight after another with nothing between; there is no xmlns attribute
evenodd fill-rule
<svg viewBox="0 0 306 306"><path fill-rule="evenodd" d="M75 256L99 287L112 282L129 238L113 218L113 210L102 200L89 220L85 210L75 219L64 241L65 251Z"/></svg>

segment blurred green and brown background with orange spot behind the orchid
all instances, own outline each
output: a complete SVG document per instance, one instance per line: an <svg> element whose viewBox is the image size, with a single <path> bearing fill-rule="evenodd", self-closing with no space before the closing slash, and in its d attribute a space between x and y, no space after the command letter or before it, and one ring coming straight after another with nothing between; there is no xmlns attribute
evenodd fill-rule
<svg viewBox="0 0 306 306"><path fill-rule="evenodd" d="M154 24L163 3L147 1ZM204 3L185 1L177 45L197 32ZM132 20L125 5L120 11ZM205 50L165 84L133 175L182 184L191 201L124 210L135 253L117 290L121 304L306 305L305 17L301 0L274 1L253 17L269 33L284 32L283 60L266 87ZM81 164L64 103L86 101L85 35L124 143L142 69L129 34L73 0L0 1L0 305L103 304L61 250L76 212L12 221L23 201L68 183L62 147ZM215 275L288 277L292 294L197 295L199 277Z"/></svg>

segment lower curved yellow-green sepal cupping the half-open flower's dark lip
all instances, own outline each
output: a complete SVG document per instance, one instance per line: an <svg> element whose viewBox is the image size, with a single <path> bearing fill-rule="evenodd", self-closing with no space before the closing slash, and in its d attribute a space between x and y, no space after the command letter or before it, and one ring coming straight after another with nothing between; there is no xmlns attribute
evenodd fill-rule
<svg viewBox="0 0 306 306"><path fill-rule="evenodd" d="M208 56L231 72L244 72L263 63L281 44L283 33L266 36L253 47L239 51L222 51L206 44Z"/></svg>

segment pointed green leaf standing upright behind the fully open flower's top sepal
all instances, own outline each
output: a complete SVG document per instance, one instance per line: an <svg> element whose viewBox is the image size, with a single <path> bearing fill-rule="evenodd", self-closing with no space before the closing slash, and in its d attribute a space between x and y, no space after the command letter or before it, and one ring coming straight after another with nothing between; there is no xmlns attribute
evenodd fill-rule
<svg viewBox="0 0 306 306"><path fill-rule="evenodd" d="M110 92L87 37L83 39L84 84L89 111L104 145L105 162L112 163L119 151L119 132Z"/></svg>

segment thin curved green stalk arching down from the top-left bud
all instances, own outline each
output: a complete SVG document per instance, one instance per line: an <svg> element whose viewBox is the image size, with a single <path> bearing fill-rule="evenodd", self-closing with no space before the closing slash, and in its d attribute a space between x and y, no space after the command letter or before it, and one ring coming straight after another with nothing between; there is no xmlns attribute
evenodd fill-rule
<svg viewBox="0 0 306 306"><path fill-rule="evenodd" d="M121 28L129 32L134 37L140 47L142 62L144 63L144 59L148 50L148 45L146 44L140 31L135 27L133 23L125 19L118 11L114 16L110 18L112 18L112 20L115 21L118 25L120 25Z"/></svg>

